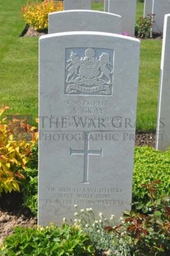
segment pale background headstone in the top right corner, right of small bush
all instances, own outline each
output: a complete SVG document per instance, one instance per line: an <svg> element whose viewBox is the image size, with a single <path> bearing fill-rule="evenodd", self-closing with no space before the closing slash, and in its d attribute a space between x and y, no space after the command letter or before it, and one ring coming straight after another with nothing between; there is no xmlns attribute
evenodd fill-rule
<svg viewBox="0 0 170 256"><path fill-rule="evenodd" d="M170 13L170 0L153 0L152 13L155 15L152 31L163 33L164 16Z"/></svg>

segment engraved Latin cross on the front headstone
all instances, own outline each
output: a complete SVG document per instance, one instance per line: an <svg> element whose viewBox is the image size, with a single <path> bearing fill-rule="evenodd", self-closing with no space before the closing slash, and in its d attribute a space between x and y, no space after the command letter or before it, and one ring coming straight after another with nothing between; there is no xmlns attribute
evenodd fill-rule
<svg viewBox="0 0 170 256"><path fill-rule="evenodd" d="M84 149L71 149L70 148L70 155L73 154L83 154L84 155L84 161L83 161L83 183L89 183L88 182L88 156L91 155L99 155L102 156L102 149L100 150L90 150L89 149L89 132L85 132L85 139L84 139Z"/></svg>

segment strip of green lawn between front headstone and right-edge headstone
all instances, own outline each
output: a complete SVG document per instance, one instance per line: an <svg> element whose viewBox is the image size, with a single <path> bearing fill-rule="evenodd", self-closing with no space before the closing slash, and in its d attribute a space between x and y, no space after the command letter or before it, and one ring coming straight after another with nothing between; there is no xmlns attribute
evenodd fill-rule
<svg viewBox="0 0 170 256"><path fill-rule="evenodd" d="M162 40L141 40L137 129L155 130Z"/></svg>

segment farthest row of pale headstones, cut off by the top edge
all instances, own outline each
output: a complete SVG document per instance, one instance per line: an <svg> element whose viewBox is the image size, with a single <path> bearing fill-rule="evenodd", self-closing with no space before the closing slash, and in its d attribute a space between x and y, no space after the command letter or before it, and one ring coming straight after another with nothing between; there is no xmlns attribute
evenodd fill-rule
<svg viewBox="0 0 170 256"><path fill-rule="evenodd" d="M137 0L104 0L104 11L122 17L121 31L135 35L135 13ZM91 0L64 0L64 10L91 10ZM170 13L170 0L144 0L144 17L154 14L152 31L163 33L164 15Z"/></svg>

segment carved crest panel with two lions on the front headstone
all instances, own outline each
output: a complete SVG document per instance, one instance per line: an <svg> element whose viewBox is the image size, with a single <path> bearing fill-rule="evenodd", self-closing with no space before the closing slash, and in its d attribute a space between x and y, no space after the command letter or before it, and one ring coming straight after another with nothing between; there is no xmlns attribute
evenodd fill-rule
<svg viewBox="0 0 170 256"><path fill-rule="evenodd" d="M66 49L65 94L111 95L113 50Z"/></svg>

